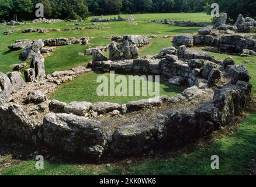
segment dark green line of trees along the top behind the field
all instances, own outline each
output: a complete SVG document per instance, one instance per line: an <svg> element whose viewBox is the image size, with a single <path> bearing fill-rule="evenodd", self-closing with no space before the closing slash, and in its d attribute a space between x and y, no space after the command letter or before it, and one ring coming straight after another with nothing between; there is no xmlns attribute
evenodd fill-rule
<svg viewBox="0 0 256 187"><path fill-rule="evenodd" d="M116 13L204 12L210 13L210 4L217 2L220 12L231 19L239 13L256 16L255 0L0 0L0 21L35 19L35 5L44 5L44 17L53 19L87 18L89 15Z"/></svg>

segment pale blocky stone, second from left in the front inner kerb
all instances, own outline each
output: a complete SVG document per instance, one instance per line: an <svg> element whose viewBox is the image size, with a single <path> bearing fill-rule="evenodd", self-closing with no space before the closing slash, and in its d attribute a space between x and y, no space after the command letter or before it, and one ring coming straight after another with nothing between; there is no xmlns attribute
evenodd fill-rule
<svg viewBox="0 0 256 187"><path fill-rule="evenodd" d="M88 115L89 109L91 108L92 103L89 102L71 102L68 105L65 105L64 112L72 113L77 116L86 116Z"/></svg>

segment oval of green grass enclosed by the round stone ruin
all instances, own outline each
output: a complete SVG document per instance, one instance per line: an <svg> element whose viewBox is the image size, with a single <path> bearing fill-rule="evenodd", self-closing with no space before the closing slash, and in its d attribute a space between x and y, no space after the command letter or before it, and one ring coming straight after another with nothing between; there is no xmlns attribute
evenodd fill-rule
<svg viewBox="0 0 256 187"><path fill-rule="evenodd" d="M115 102L124 104L129 101L136 101L139 99L148 99L148 98L154 98L154 95L148 95L148 92L146 91L146 96L143 95L143 84L146 85L150 81L143 80L140 81L140 95L135 95L136 86L134 84L133 86L133 96L129 96L129 75L124 75L123 77L127 80L127 96L99 96L97 93L97 88L99 85L101 85L101 82L96 82L97 78L101 75L105 75L108 78L108 82L110 82L110 75L109 74L96 74L94 72L89 72L88 74L81 75L78 78L75 78L74 81L68 82L67 84L61 86L60 89L57 89L57 91L54 93L52 99L57 99L59 101L63 102L72 102L72 101L87 101L87 102ZM115 78L118 75L115 75ZM140 80L140 78L136 78L137 80ZM152 82L153 85L155 85L155 82ZM115 86L119 85L120 82L117 82ZM182 92L182 88L178 86L173 86L168 84L168 82L160 81L160 84L156 84L160 88L160 95L168 95L168 96L174 96L178 93ZM110 88L110 84L108 84L108 88ZM155 88L155 87L153 87ZM121 89L122 90L122 89ZM155 91L155 89L153 89ZM110 91L108 89L108 93L110 94Z"/></svg>

